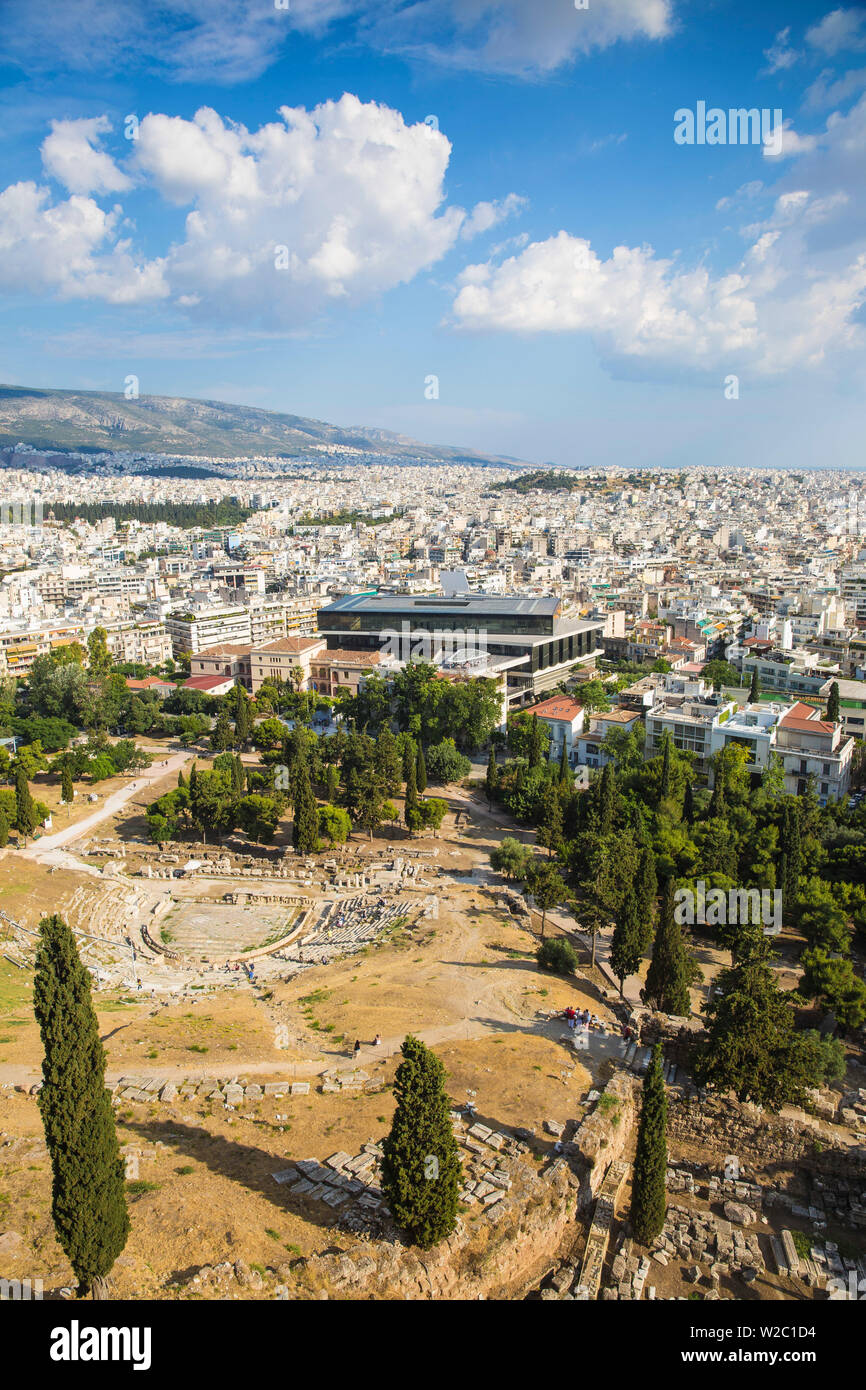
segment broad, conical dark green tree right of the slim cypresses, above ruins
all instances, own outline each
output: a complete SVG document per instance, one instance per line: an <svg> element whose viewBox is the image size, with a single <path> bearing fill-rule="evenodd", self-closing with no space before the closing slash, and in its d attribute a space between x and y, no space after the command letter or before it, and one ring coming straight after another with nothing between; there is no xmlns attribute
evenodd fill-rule
<svg viewBox="0 0 866 1390"><path fill-rule="evenodd" d="M815 1054L794 1030L791 995L778 988L766 941L716 977L705 1005L706 1040L698 1048L695 1080L734 1091L770 1111L803 1105L806 1088L820 1084Z"/></svg>

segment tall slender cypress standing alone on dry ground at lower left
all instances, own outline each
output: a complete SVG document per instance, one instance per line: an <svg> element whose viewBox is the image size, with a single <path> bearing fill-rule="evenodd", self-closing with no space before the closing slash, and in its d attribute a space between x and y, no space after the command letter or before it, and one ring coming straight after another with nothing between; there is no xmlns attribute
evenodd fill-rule
<svg viewBox="0 0 866 1390"><path fill-rule="evenodd" d="M43 917L39 935L33 1009L44 1048L39 1109L51 1156L51 1218L79 1294L96 1298L129 1234L124 1162L90 977L63 917Z"/></svg>

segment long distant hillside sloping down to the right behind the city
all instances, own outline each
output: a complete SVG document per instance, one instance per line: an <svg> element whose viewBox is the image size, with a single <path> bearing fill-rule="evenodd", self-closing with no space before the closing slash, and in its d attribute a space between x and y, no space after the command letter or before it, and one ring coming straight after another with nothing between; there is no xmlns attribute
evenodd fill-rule
<svg viewBox="0 0 866 1390"><path fill-rule="evenodd" d="M418 443L386 430L341 430L322 420L284 416L252 406L182 396L126 400L111 391L40 391L0 386L0 448L125 450L206 455L221 459L321 459L316 445L342 445L421 463L503 463L518 460Z"/></svg>

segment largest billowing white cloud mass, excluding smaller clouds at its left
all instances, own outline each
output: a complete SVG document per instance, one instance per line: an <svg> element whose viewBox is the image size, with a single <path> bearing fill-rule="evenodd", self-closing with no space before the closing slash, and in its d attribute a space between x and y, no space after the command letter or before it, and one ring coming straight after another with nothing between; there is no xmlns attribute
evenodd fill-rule
<svg viewBox="0 0 866 1390"><path fill-rule="evenodd" d="M193 317L291 327L411 279L457 239L439 131L350 95L279 114L253 132L207 107L140 124L139 175L192 204L167 275Z"/></svg>

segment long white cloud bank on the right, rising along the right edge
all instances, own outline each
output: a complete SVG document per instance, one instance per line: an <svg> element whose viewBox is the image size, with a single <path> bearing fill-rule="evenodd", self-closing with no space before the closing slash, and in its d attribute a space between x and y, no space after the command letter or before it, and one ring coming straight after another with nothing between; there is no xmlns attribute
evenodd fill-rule
<svg viewBox="0 0 866 1390"><path fill-rule="evenodd" d="M651 247L617 246L607 259L560 231L506 260L460 277L452 321L463 329L585 332L610 357L683 371L813 367L866 346L866 97L834 113L819 136L785 131L790 174L766 192L773 204L745 227L748 249L727 274L687 268Z"/></svg>

